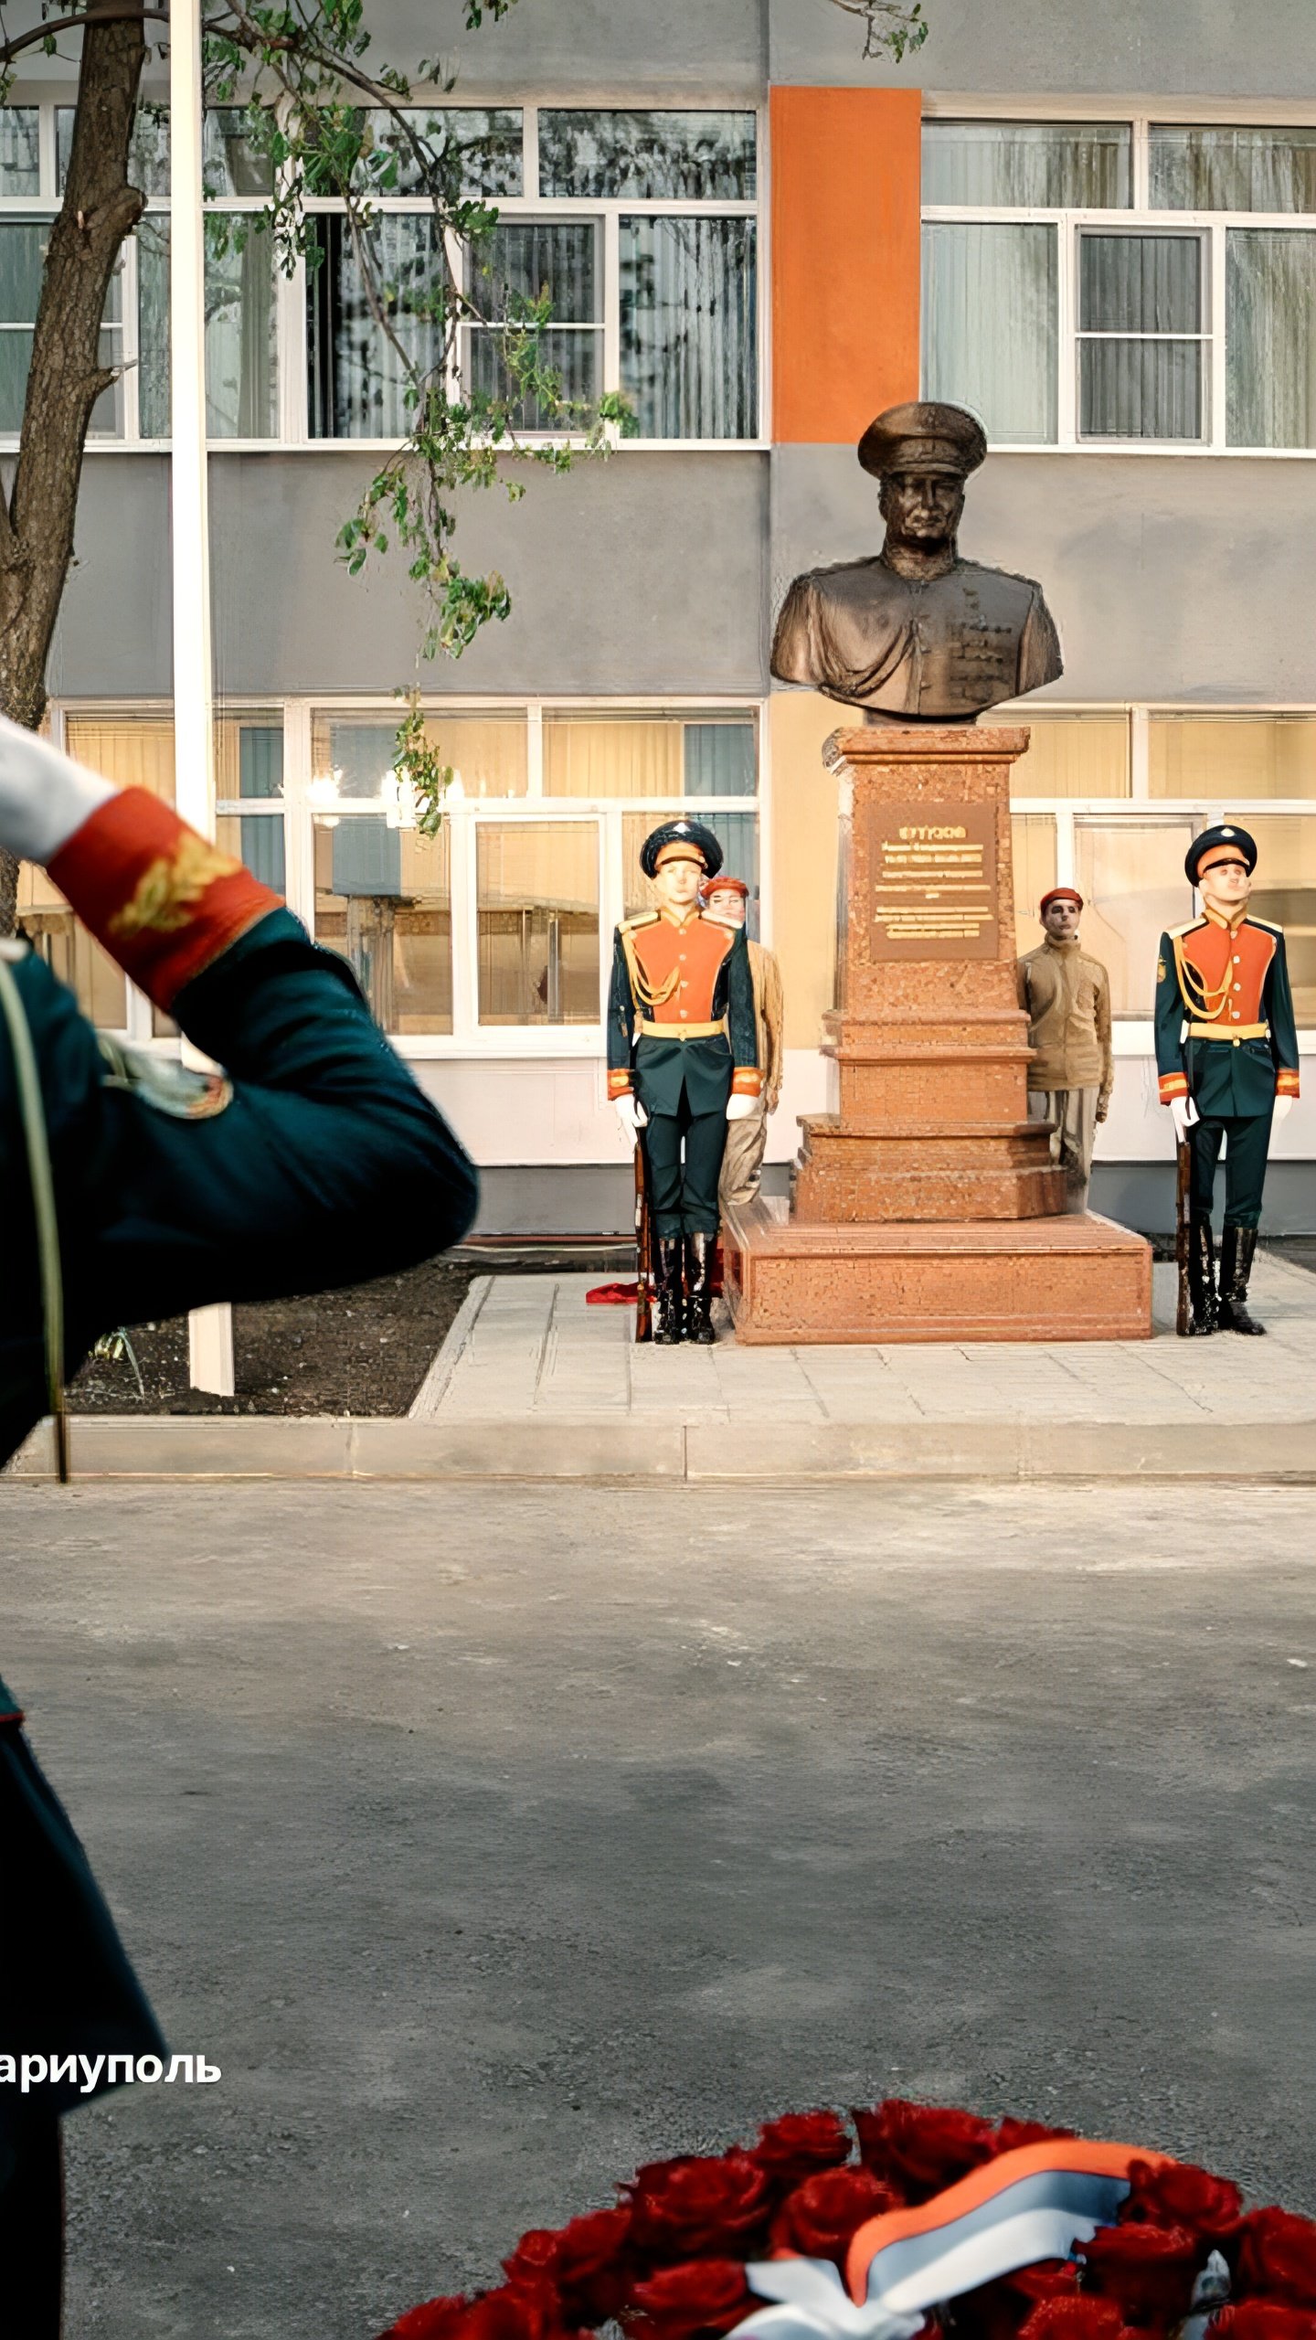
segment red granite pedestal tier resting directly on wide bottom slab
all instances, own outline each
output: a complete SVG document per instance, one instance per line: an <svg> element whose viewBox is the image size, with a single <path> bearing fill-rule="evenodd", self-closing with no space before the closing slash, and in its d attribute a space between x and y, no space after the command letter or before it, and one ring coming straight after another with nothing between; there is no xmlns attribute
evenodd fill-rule
<svg viewBox="0 0 1316 2340"><path fill-rule="evenodd" d="M794 1168L796 1219L1040 1219L1065 1210L1065 1177L1040 1121L850 1128L808 1116Z"/></svg>

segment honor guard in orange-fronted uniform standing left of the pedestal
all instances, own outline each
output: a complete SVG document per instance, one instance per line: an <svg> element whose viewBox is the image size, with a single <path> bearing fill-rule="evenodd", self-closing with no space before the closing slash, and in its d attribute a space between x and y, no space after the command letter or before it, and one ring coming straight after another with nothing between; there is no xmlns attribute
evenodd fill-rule
<svg viewBox="0 0 1316 2340"><path fill-rule="evenodd" d="M658 1243L653 1338L710 1343L726 1123L754 1114L761 1088L754 983L745 929L698 903L700 885L721 868L712 828L663 821L644 840L639 868L658 908L616 929L609 1097L646 1154Z"/></svg>

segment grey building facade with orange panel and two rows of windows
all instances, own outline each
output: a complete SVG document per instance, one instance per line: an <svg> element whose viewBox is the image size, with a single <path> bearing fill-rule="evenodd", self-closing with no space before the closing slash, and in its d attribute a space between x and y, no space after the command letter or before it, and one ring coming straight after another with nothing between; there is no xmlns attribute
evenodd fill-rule
<svg viewBox="0 0 1316 2340"><path fill-rule="evenodd" d="M632 426L525 501L471 496L466 569L513 594L457 665L417 665L403 562L349 578L335 536L403 428L351 246L283 278L215 229L206 288L215 824L333 948L485 1175L489 1231L630 1224L606 1102L614 922L637 847L686 810L754 889L782 962L796 1116L827 1107L834 702L768 676L791 576L880 543L864 424L918 393L972 407L991 454L962 550L1044 585L1063 679L1014 714L1019 948L1056 882L1110 966L1117 1083L1094 1207L1171 1214L1152 1062L1183 854L1239 819L1257 913L1286 927L1316 1051L1316 51L1307 0L927 0L902 66L834 0L375 0L375 54L454 56L436 96L499 208L508 281L550 285L553 356ZM1028 19L1028 21L1026 21ZM0 117L0 461L21 417L44 220L73 84ZM148 96L157 96L148 91ZM206 129L211 213L260 208L239 115ZM87 454L52 721L112 777L173 786L169 108L143 110L150 208L108 346L126 360ZM424 269L426 206L379 234ZM241 239L239 239L241 241ZM459 367L480 379L480 335ZM454 768L440 838L391 782L396 690ZM1005 711L1009 718L1012 711ZM96 1018L171 1046L28 878L28 931ZM1276 1133L1267 1224L1316 1231L1316 1095Z"/></svg>

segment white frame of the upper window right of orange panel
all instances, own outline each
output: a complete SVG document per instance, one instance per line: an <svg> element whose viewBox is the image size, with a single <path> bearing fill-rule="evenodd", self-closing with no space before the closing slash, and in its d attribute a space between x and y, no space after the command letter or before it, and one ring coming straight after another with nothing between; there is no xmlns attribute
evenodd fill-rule
<svg viewBox="0 0 1316 2340"><path fill-rule="evenodd" d="M1201 122L1239 124L1257 129L1314 126L1316 105L1115 105L1105 103L1058 103L1023 105L1019 101L986 101L981 96L927 98L925 119L951 122L1112 122L1129 124L1133 136L1131 197L1126 206L1098 208L1051 208L1016 204L925 204L923 220L951 220L981 227L1051 227L1056 234L1056 438L1054 440L991 440L1000 454L1133 454L1133 456L1229 456L1255 461L1302 463L1316 461L1316 447L1229 447L1225 442L1227 398L1227 349L1225 349L1225 267L1229 229L1283 229L1288 234L1316 236L1316 211L1152 211L1150 194L1150 133L1152 122ZM1197 440L1143 440L1143 438L1079 438L1077 431L1077 379L1079 379L1079 330L1077 330L1077 246L1084 229L1105 234L1197 234L1204 243L1204 330L1187 339L1201 339L1208 351L1204 370L1201 405L1204 435ZM1115 335L1136 339L1136 335ZM1152 335L1161 339L1161 335Z"/></svg>

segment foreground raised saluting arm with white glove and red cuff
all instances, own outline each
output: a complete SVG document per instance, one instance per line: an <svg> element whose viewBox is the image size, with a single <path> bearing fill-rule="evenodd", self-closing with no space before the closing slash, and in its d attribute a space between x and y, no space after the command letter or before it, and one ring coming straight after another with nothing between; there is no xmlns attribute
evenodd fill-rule
<svg viewBox="0 0 1316 2340"><path fill-rule="evenodd" d="M101 1165L70 1165L70 1322L323 1289L466 1233L478 1179L457 1137L347 962L241 861L150 791L110 789L2 718L0 842L40 859L232 1074L232 1097L199 1119L155 1112L131 1083L87 1090L84 1114L115 1142Z"/></svg>

